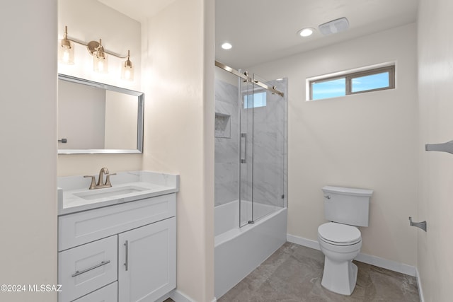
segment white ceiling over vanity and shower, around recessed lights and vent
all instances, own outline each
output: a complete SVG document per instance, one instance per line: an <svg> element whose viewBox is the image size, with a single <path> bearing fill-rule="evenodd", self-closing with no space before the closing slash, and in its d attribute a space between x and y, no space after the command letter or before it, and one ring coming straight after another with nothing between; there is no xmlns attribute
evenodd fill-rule
<svg viewBox="0 0 453 302"><path fill-rule="evenodd" d="M144 21L176 0L98 0ZM235 69L414 23L418 0L215 0L215 57ZM318 25L341 17L350 28L323 36ZM310 37L297 31L315 28ZM222 50L223 42L233 45Z"/></svg>

